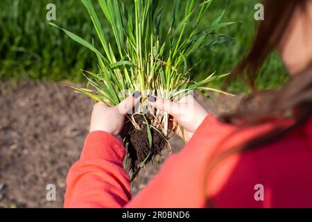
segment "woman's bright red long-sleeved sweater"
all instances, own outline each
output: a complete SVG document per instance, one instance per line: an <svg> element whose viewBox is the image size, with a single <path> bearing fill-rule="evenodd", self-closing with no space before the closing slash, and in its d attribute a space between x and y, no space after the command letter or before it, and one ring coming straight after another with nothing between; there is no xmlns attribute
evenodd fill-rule
<svg viewBox="0 0 312 222"><path fill-rule="evenodd" d="M108 133L90 133L69 170L64 207L205 207L204 190L214 207L312 207L312 118L277 142L227 157L205 177L207 162L220 149L277 124L236 133L236 127L209 114L182 151L168 157L132 199L123 169L125 148ZM254 198L259 184L264 200Z"/></svg>

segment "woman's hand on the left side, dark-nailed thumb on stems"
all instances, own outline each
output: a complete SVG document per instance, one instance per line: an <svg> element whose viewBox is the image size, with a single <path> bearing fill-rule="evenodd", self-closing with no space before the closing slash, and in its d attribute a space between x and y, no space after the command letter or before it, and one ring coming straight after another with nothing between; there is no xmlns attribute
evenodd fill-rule
<svg viewBox="0 0 312 222"><path fill-rule="evenodd" d="M125 114L132 111L132 108L139 103L140 98L141 94L135 92L135 94L128 96L127 99L119 103L119 105L113 107L105 103L96 103L92 111L90 133L105 131L120 139L119 133L121 133L123 128Z"/></svg>

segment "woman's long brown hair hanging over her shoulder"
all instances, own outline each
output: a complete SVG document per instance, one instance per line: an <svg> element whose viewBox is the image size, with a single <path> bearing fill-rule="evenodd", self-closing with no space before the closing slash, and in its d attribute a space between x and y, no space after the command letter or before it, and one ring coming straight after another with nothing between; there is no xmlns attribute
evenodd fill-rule
<svg viewBox="0 0 312 222"><path fill-rule="evenodd" d="M273 142L311 117L312 65L306 71L291 78L288 84L281 89L257 92L255 86L259 69L270 53L283 40L283 37L285 37L286 28L293 18L295 9L301 8L304 10L308 1L263 0L265 20L259 24L252 49L239 62L225 83L225 86L227 86L235 77L239 77L244 83L248 84L254 93L245 96L234 112L223 114L219 117L219 120L225 123L243 123L239 125L237 133L240 130L256 126L277 117L285 119L285 121L293 119L293 124L286 127L277 126L270 132L243 142L239 146L229 148L221 153L215 153L214 157L207 161L205 185L203 187L206 195L208 175L220 161L234 153L243 153ZM284 125L281 124L281 126ZM213 206L208 196L207 206Z"/></svg>

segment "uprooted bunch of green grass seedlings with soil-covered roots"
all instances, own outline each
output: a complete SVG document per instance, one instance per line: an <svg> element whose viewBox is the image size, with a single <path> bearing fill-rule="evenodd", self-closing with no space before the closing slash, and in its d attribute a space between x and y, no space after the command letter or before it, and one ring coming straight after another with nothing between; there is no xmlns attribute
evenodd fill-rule
<svg viewBox="0 0 312 222"><path fill-rule="evenodd" d="M177 127L183 132L177 123L168 127L172 125L169 124L170 116L151 108L146 103L148 95L177 102L194 89L203 93L205 90L221 92L205 85L226 74L209 74L207 78L195 82L191 80L192 67L187 62L196 50L220 44L221 40L216 40L216 31L232 22L221 23L222 12L209 26L199 30L201 19L212 0L188 0L183 2L183 8L180 0L173 1L172 6L171 2L166 1L170 4L168 7L172 7L172 22L168 24L166 33L161 33L164 8L159 7L158 0L133 0L131 7L125 6L122 1L98 0L103 15L96 14L93 1L81 1L89 12L102 48L96 48L93 43L61 28L71 39L93 51L98 58L96 73L83 71L88 80L87 88L73 88L110 106L128 97L129 94L125 92L141 92L139 108L126 118L131 128L124 141L128 151L125 167L133 179L148 162L160 157L164 148L171 150L168 138ZM103 17L110 24L114 42L107 42L108 37L101 21Z"/></svg>

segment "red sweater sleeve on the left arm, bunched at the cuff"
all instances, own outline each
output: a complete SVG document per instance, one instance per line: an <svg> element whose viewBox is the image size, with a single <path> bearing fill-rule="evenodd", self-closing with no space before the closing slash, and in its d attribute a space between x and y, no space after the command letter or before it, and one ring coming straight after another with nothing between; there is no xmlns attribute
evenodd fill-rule
<svg viewBox="0 0 312 222"><path fill-rule="evenodd" d="M67 175L64 207L123 207L131 198L123 169L125 148L110 133L96 131L85 139L80 160Z"/></svg>

